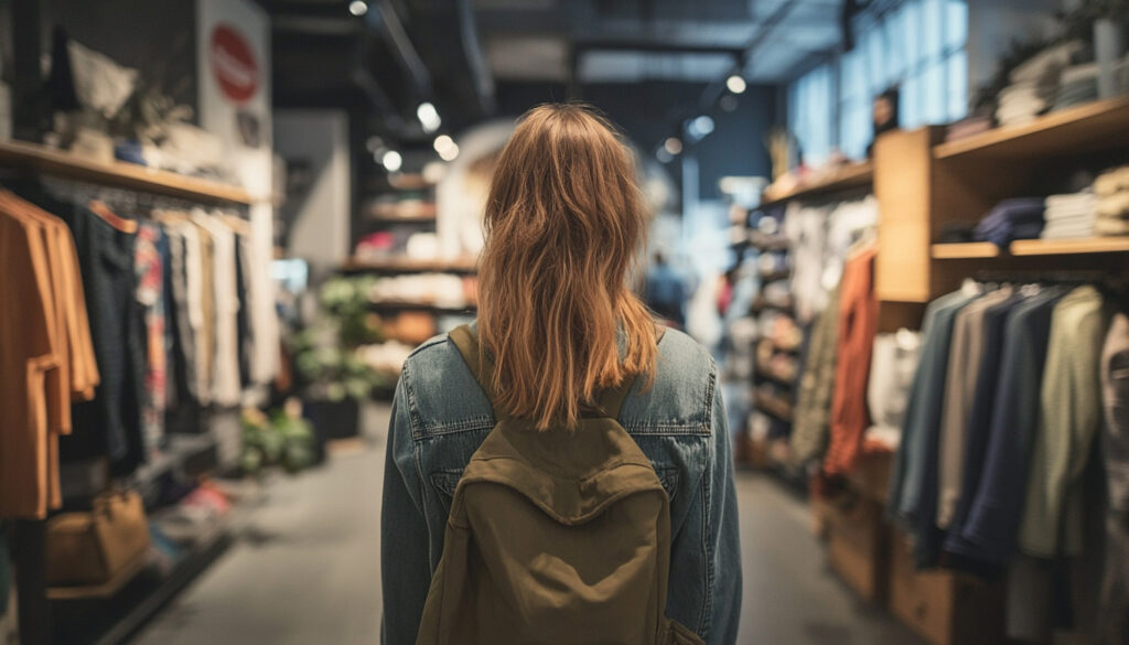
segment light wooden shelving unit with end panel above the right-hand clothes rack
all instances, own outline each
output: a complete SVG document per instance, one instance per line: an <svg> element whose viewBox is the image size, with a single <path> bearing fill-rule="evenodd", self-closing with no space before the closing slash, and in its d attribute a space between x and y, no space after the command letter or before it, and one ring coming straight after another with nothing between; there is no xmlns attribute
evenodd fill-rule
<svg viewBox="0 0 1129 645"><path fill-rule="evenodd" d="M1087 160L1115 163L1119 150L1129 148L1129 97L957 141L945 142L943 136L940 128L921 128L875 142L879 299L928 303L970 274L970 263L961 260L1009 271L1108 271L1106 256L1129 251L1126 238L1025 239L1006 250L934 243L948 225L979 219L1003 199L1042 194L1049 176L1065 176ZM1117 255L1119 267L1122 258Z"/></svg>

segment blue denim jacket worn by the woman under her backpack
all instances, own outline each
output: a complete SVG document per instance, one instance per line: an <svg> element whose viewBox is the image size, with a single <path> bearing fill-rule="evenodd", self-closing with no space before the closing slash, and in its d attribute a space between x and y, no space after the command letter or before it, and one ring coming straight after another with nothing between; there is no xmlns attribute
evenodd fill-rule
<svg viewBox="0 0 1129 645"><path fill-rule="evenodd" d="M620 422L671 498L666 616L710 645L732 644L741 612L737 503L714 360L667 330L655 381L636 380ZM455 485L493 428L490 403L446 335L408 358L393 402L380 558L385 645L412 645L443 555Z"/></svg>

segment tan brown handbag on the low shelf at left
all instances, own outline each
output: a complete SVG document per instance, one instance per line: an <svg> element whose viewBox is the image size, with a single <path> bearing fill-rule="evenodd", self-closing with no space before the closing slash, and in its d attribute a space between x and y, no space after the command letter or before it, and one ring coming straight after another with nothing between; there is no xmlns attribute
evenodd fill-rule
<svg viewBox="0 0 1129 645"><path fill-rule="evenodd" d="M135 491L104 493L89 512L47 522L47 584L106 584L149 549L145 504Z"/></svg>

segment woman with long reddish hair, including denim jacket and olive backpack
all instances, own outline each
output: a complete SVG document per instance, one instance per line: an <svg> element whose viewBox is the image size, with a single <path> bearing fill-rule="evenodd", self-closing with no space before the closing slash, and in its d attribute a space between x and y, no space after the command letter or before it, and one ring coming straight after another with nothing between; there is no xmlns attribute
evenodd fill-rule
<svg viewBox="0 0 1129 645"><path fill-rule="evenodd" d="M734 643L741 558L725 406L710 357L664 333L627 287L648 220L634 177L610 124L576 105L534 108L502 151L480 317L417 349L396 387L385 644ZM509 456L484 459L498 453ZM628 504L642 494L606 496L602 487L624 483L614 463L572 478L577 461L616 453L637 490L657 494L650 506ZM505 482L475 514L464 502L484 469ZM508 505L515 490L523 507ZM543 515L536 531L508 521L533 515ZM607 552L631 533L647 533L639 549ZM622 566L578 564L594 557ZM668 584L620 593L637 578ZM589 637L596 625L605 631Z"/></svg>

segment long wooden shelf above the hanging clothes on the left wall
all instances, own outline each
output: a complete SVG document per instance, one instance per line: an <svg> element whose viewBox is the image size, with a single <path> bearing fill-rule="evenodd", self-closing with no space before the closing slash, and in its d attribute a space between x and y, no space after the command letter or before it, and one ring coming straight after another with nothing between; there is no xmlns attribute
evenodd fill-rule
<svg viewBox="0 0 1129 645"><path fill-rule="evenodd" d="M251 203L240 188L189 177L125 162L108 164L82 159L38 143L0 141L0 166L27 168L55 177L121 186L196 201Z"/></svg>

